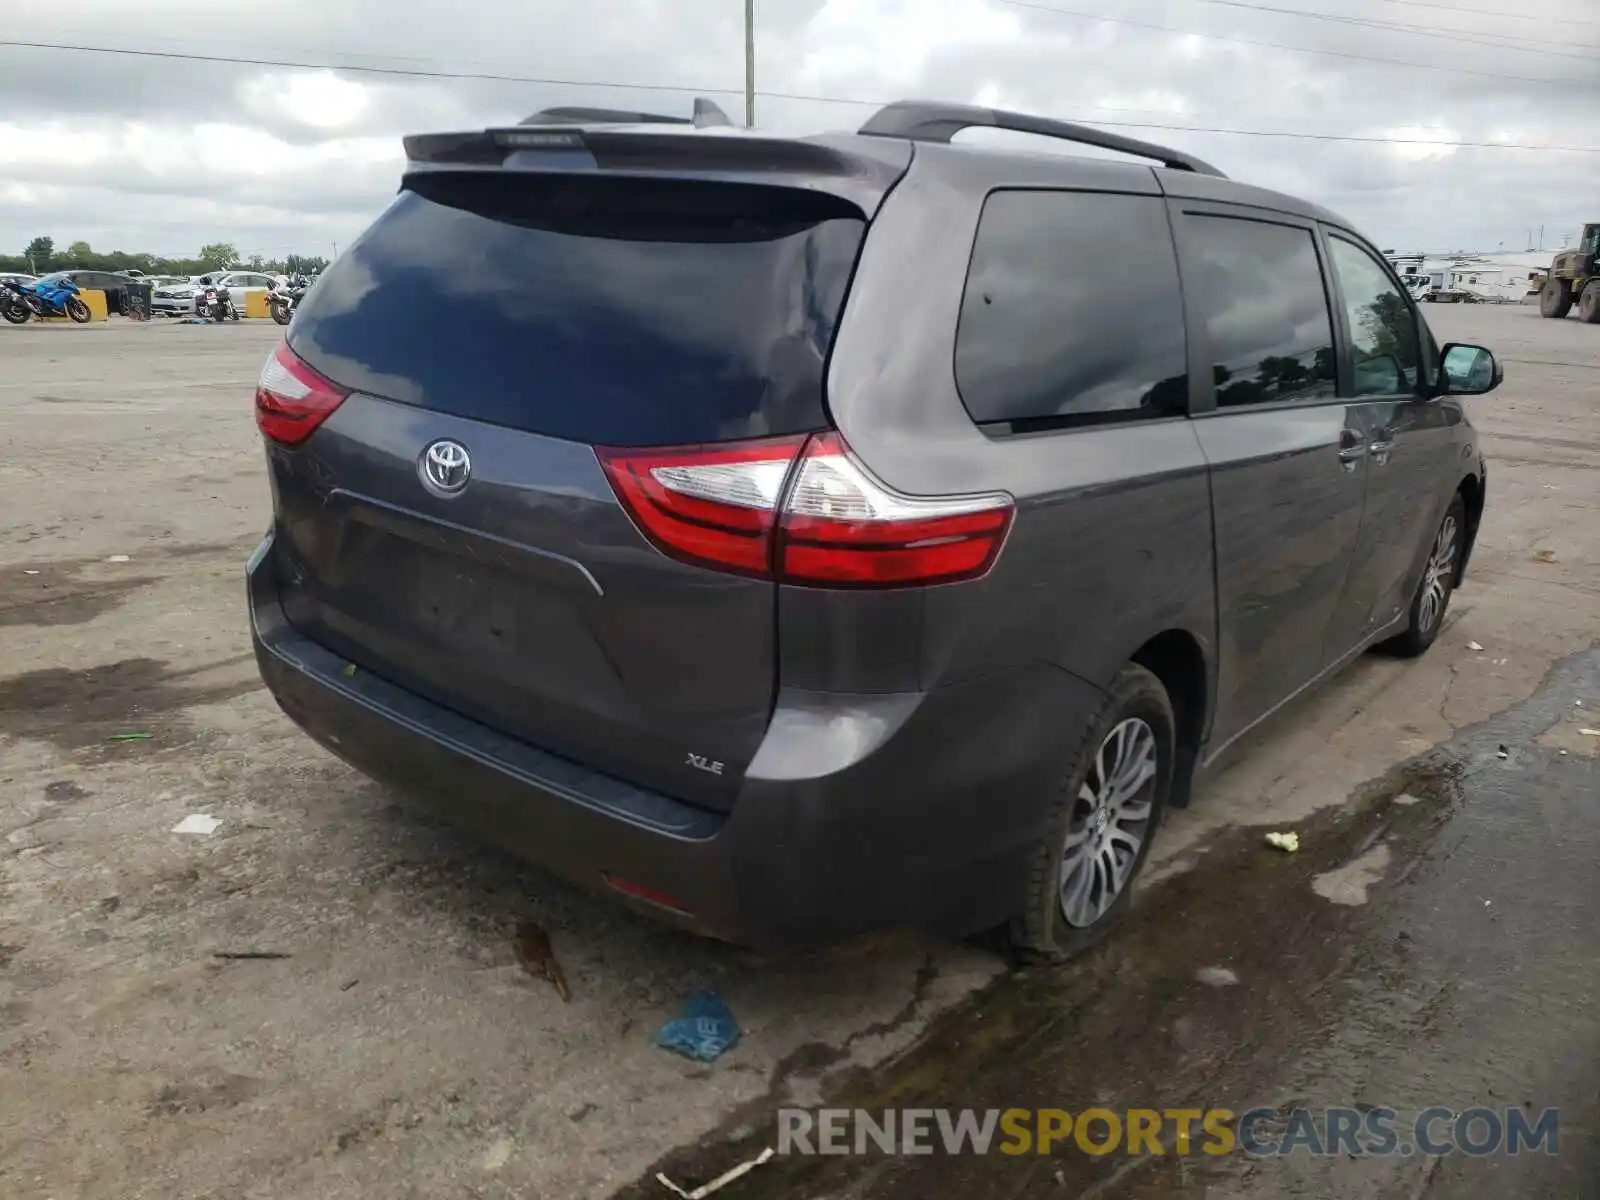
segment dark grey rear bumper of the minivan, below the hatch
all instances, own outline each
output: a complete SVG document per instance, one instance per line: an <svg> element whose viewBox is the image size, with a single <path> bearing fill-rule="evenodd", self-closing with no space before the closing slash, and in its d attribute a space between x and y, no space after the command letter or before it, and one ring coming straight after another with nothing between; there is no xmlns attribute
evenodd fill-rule
<svg viewBox="0 0 1600 1200"><path fill-rule="evenodd" d="M715 813L347 674L283 619L269 547L248 568L256 661L307 734L557 875L736 942L886 925L965 934L1005 920L1022 904L1066 747L1098 702L1043 664L915 696L786 693L733 811Z"/></svg>

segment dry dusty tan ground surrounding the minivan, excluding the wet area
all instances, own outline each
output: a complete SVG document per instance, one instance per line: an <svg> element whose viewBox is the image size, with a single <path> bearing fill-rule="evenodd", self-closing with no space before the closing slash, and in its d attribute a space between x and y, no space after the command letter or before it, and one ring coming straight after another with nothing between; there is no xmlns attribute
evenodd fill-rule
<svg viewBox="0 0 1600 1200"><path fill-rule="evenodd" d="M1174 814L1142 909L1205 904L1240 827L1352 805L1600 635L1600 330L1429 318L1506 362L1470 402L1491 459L1470 586L1426 659L1363 659ZM907 934L760 957L656 928L398 811L299 734L256 680L242 589L277 336L0 328L0 1195L606 1197L896 1056L1000 973ZM1581 726L1542 741L1590 754ZM190 813L221 824L173 834ZM522 920L570 1003L518 968ZM742 1042L709 1067L656 1050L707 986Z"/></svg>

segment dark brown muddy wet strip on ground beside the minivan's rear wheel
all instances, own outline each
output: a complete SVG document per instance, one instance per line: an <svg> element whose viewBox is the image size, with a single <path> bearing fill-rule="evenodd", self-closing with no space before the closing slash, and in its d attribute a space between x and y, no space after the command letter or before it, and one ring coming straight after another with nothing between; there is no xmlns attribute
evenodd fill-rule
<svg viewBox="0 0 1600 1200"><path fill-rule="evenodd" d="M1200 864L1146 894L1117 934L1059 968L1003 976L938 1019L906 1056L827 1088L824 1107L1034 1109L1091 1106L1237 1107L1266 1086L1291 1054L1298 1032L1338 1003L1334 981L1381 909L1386 880L1370 904L1331 904L1314 894L1318 875L1387 846L1403 875L1459 800L1461 763L1430 755L1365 789L1355 803L1293 829L1302 850L1283 854L1259 829L1227 830ZM1237 981L1221 982L1219 981ZM1259 1077L1258 1077L1259 1074ZM741 1114L722 1138L667 1157L654 1170L691 1187L752 1158L776 1138L773 1109ZM930 1160L779 1157L717 1192L750 1197L1080 1195L1128 1168L1126 1155L939 1157ZM662 1195L651 1176L619 1197Z"/></svg>

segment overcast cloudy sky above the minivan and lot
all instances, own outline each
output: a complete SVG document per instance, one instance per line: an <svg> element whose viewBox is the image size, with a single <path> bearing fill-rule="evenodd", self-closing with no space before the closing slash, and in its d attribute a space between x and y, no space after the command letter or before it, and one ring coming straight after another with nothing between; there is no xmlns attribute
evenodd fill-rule
<svg viewBox="0 0 1600 1200"><path fill-rule="evenodd" d="M232 242L246 256L326 254L392 195L403 133L507 123L562 102L686 114L696 93L742 118L741 0L5 8L0 42L80 50L0 45L3 253L48 234L96 250ZM1600 149L1597 0L755 10L757 123L781 131L853 128L882 99L978 101L1125 123L1344 213L1382 246L1522 250L1539 226L1558 246L1600 219L1600 152L1464 146Z"/></svg>

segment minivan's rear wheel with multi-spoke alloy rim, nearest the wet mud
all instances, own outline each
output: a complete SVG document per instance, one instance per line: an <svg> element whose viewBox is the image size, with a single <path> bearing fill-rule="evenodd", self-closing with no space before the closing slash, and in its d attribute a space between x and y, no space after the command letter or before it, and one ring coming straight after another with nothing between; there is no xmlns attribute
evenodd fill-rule
<svg viewBox="0 0 1600 1200"><path fill-rule="evenodd" d="M1010 926L1021 957L1075 958L1128 910L1171 795L1176 757L1178 723L1166 688L1130 662L1051 798L1032 853L1027 904Z"/></svg>

